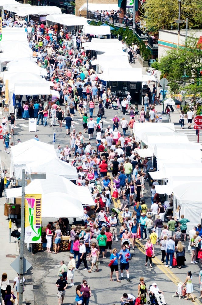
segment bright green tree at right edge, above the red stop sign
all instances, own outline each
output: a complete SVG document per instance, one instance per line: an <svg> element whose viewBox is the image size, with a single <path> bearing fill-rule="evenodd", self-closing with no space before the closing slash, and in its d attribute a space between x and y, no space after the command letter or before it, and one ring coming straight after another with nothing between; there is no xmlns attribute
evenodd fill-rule
<svg viewBox="0 0 202 305"><path fill-rule="evenodd" d="M171 93L185 90L195 101L202 98L202 45L197 38L184 48L171 49L159 60L159 70L169 80Z"/></svg>

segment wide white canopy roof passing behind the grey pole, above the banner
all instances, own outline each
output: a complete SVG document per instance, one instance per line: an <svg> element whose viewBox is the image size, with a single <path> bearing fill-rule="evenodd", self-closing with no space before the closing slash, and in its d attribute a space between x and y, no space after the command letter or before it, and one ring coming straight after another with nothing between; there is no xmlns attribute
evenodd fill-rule
<svg viewBox="0 0 202 305"><path fill-rule="evenodd" d="M29 185L25 187L26 194L42 194L46 195L50 192L57 191L58 193L64 193L68 197L76 198L83 205L94 205L94 201L89 192L89 189L84 186L77 186L68 179L53 175L46 174L46 179L36 179L31 181ZM7 198L21 197L22 188L8 189ZM57 203L60 201L60 196L57 199ZM56 205L57 205L56 203Z"/></svg>

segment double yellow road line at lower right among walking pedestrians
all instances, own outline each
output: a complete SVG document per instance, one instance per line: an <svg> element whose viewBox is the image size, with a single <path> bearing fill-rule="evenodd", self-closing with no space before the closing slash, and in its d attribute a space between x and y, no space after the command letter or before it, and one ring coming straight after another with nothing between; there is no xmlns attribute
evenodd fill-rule
<svg viewBox="0 0 202 305"><path fill-rule="evenodd" d="M139 242L139 240L136 240L138 249L145 254L145 247ZM169 268L164 267L163 263L158 258L152 258L152 262L155 263L155 265L160 269L176 286L182 282ZM174 293L174 292L173 292ZM196 297L196 296L195 296ZM195 299L195 302L197 304L201 304L199 300Z"/></svg>

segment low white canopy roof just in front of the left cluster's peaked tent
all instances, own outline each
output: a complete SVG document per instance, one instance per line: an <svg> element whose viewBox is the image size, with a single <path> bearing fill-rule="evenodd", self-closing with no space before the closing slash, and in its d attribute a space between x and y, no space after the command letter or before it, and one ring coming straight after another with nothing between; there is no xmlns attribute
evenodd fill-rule
<svg viewBox="0 0 202 305"><path fill-rule="evenodd" d="M54 158L50 161L39 160L33 163L30 163L30 171L32 173L35 172L46 172L47 174L57 173L58 176L62 176L69 180L77 180L78 173L76 167L71 166L69 163L59 160L58 158Z"/></svg>

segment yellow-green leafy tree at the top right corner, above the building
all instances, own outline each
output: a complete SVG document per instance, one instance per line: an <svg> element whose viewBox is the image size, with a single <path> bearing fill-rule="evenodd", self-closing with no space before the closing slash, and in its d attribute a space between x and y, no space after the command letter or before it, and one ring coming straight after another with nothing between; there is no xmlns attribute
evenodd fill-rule
<svg viewBox="0 0 202 305"><path fill-rule="evenodd" d="M188 27L201 29L202 27L202 1L185 0L181 2L180 19L188 18ZM177 28L175 19L178 19L177 0L146 0L143 5L144 20L149 31L156 32L159 29ZM185 27L185 25L180 25Z"/></svg>

